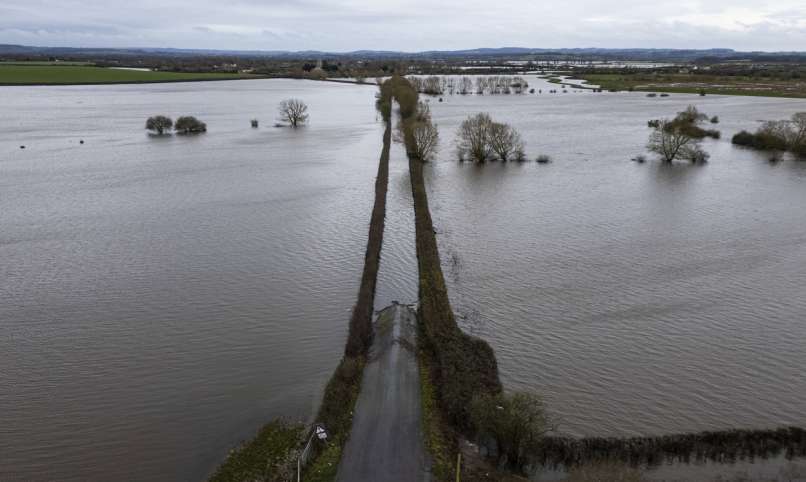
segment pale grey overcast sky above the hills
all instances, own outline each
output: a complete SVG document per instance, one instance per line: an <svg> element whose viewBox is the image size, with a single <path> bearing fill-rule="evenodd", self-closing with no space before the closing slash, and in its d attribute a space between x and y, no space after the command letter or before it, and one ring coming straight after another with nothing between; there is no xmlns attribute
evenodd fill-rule
<svg viewBox="0 0 806 482"><path fill-rule="evenodd" d="M806 51L806 0L2 0L0 43L257 50Z"/></svg>

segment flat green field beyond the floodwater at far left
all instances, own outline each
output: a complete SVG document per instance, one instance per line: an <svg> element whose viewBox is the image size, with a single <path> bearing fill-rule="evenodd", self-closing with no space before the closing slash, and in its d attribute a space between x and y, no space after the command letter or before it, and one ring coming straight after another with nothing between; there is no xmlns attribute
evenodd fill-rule
<svg viewBox="0 0 806 482"><path fill-rule="evenodd" d="M0 85L126 84L254 77L248 74L149 72L82 65L0 63Z"/></svg>

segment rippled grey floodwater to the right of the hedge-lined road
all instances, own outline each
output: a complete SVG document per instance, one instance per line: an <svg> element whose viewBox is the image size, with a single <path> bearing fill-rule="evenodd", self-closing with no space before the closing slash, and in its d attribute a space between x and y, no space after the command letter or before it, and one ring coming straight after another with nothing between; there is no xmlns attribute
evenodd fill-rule
<svg viewBox="0 0 806 482"><path fill-rule="evenodd" d="M630 162L647 120L688 104L721 119L710 163ZM505 387L541 394L577 436L806 425L806 162L730 144L806 101L588 91L431 108L451 302ZM553 162L456 162L450 141L476 112Z"/></svg>

